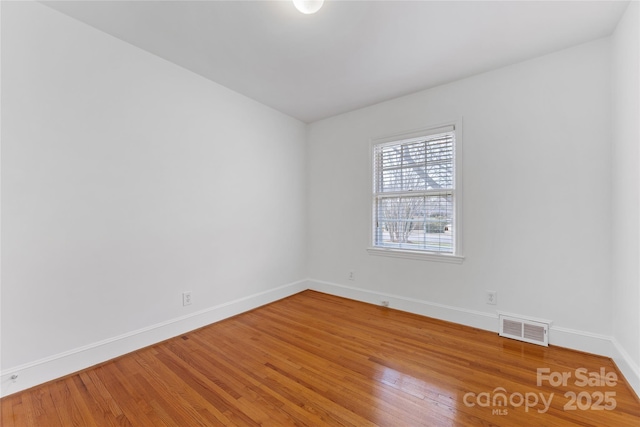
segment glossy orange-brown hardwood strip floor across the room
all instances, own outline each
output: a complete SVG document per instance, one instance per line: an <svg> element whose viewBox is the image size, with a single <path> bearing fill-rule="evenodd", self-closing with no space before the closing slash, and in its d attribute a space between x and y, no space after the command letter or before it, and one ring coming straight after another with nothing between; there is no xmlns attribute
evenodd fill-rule
<svg viewBox="0 0 640 427"><path fill-rule="evenodd" d="M5 427L640 425L607 358L313 291L1 403Z"/></svg>

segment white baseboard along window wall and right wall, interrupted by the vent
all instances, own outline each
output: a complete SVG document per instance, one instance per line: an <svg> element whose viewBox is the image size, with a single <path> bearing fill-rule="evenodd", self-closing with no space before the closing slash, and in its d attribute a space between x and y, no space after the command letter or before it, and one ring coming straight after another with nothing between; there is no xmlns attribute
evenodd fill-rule
<svg viewBox="0 0 640 427"><path fill-rule="evenodd" d="M309 289L318 292L376 305L380 304L381 301L389 301L389 306L398 310L498 333L499 324L497 314L467 310L460 307L452 307L430 301L319 280L309 280L308 285ZM549 329L549 344L613 359L627 380L627 383L640 397L640 369L633 363L631 357L624 351L614 337L552 325Z"/></svg>

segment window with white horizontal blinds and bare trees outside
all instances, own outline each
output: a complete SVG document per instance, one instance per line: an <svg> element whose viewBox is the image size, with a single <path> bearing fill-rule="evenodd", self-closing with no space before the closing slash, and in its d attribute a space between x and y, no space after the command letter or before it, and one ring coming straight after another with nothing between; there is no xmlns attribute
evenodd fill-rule
<svg viewBox="0 0 640 427"><path fill-rule="evenodd" d="M373 142L375 255L460 262L456 125Z"/></svg>

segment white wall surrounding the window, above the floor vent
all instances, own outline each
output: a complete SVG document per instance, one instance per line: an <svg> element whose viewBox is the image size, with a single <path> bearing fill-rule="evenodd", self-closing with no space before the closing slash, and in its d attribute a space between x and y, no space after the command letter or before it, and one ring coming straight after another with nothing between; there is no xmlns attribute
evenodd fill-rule
<svg viewBox="0 0 640 427"><path fill-rule="evenodd" d="M609 40L601 39L313 123L315 287L372 302L396 296L392 306L494 330L496 309L550 319L552 343L606 341L610 113ZM370 139L460 117L464 263L369 255ZM498 292L497 306L484 303L487 289Z"/></svg>

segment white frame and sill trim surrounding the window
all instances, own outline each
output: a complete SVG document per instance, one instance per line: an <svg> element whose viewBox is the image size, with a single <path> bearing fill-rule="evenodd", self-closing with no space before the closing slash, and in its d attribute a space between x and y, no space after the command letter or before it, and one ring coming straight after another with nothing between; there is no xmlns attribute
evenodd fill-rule
<svg viewBox="0 0 640 427"><path fill-rule="evenodd" d="M405 249L405 248L390 248L384 246L376 246L375 235L375 221L376 221L376 168L375 168L375 152L376 147L380 145L390 145L394 142L402 143L416 138L428 137L447 131L447 129L453 128L454 132L454 145L453 145L453 229L454 229L454 252L441 253L436 251L428 251L421 249ZM394 258L416 259L426 261L439 261L460 264L464 261L462 255L462 118L444 122L436 125L430 125L415 129L412 131L397 133L384 137L372 138L369 144L369 179L370 179L370 218L369 218L369 247L367 252L370 255L387 256Z"/></svg>

